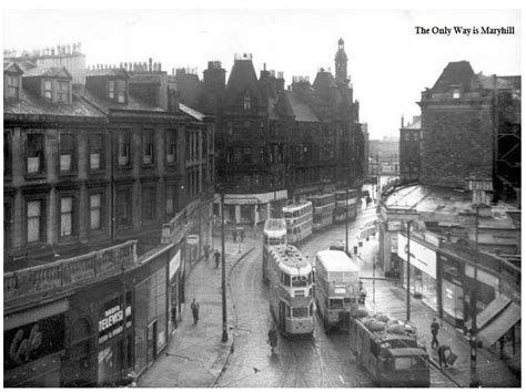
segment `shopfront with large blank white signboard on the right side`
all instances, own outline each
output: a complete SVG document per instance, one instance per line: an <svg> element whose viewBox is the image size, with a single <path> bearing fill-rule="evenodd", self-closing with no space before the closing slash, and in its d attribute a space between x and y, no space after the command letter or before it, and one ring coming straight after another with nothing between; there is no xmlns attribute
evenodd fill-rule
<svg viewBox="0 0 526 392"><path fill-rule="evenodd" d="M397 257L402 264L402 285L407 287L407 237L398 233ZM436 248L431 244L409 239L409 290L415 298L437 310Z"/></svg>

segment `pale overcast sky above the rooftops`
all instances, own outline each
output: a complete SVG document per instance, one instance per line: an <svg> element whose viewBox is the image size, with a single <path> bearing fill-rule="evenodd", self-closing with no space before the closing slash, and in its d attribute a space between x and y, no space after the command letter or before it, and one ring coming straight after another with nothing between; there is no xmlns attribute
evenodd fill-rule
<svg viewBox="0 0 526 392"><path fill-rule="evenodd" d="M308 75L313 82L321 66L334 72L337 40L343 38L361 122L370 124L371 138L397 136L401 116L419 114L415 102L421 91L432 87L451 61L467 60L475 72L485 74L520 74L519 10L312 9L313 3L311 9L244 10L241 6L3 10L3 47L32 50L81 42L88 65L153 58L170 72L196 68L200 78L210 60L221 61L227 78L234 54L249 52L257 75L266 63L269 70L283 71L289 85L293 75ZM417 35L415 27L515 27L515 34Z"/></svg>

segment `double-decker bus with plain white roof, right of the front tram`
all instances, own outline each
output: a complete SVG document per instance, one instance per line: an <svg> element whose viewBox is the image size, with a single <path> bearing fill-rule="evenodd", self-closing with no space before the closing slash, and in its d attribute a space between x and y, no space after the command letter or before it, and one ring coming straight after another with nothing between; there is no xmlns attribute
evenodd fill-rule
<svg viewBox="0 0 526 392"><path fill-rule="evenodd" d="M321 250L315 259L316 308L325 330L348 329L351 312L358 308L360 268L342 250Z"/></svg>

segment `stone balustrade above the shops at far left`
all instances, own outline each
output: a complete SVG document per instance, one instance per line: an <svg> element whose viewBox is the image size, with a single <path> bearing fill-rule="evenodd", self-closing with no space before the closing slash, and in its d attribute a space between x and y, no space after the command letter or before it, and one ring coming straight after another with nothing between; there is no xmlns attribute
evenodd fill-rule
<svg viewBox="0 0 526 392"><path fill-rule="evenodd" d="M64 289L80 281L105 278L136 262L136 240L71 259L3 274L4 300Z"/></svg>

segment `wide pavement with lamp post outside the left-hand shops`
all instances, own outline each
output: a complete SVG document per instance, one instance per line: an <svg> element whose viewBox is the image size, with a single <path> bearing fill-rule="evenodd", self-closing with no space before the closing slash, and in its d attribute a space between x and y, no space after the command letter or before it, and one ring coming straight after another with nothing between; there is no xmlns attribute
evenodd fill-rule
<svg viewBox="0 0 526 392"><path fill-rule="evenodd" d="M216 233L215 233L216 231ZM261 246L257 229L245 228L243 244L234 244L225 229L225 272ZM214 248L221 251L221 237L214 230ZM196 262L186 278L188 303L183 306L181 321L173 331L169 345L159 353L153 364L136 381L140 388L210 388L223 372L233 345L227 322L229 340L222 342L223 307L221 296L221 265L215 268L212 255ZM194 326L190 302L200 303L199 322ZM233 320L234 309L226 289L226 320Z"/></svg>

